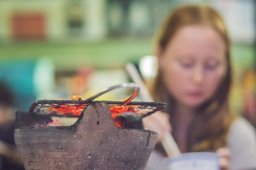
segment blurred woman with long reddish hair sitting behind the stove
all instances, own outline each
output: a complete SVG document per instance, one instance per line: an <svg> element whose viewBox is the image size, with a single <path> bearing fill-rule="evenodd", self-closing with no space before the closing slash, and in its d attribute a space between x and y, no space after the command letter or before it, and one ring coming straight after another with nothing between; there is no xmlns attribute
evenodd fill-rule
<svg viewBox="0 0 256 170"><path fill-rule="evenodd" d="M256 169L256 132L228 105L230 39L221 15L209 6L175 9L157 33L156 56L152 94L168 106L145 118L145 129L159 133L159 141L172 132L182 153L217 151L224 169ZM166 156L159 144L156 150Z"/></svg>

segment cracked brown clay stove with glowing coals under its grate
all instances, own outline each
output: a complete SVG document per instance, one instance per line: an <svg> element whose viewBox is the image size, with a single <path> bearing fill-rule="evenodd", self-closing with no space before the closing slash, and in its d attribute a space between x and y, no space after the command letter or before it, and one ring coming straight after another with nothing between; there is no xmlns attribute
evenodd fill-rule
<svg viewBox="0 0 256 170"><path fill-rule="evenodd" d="M86 105L76 123L71 126L26 127L23 124L25 114L40 115L37 107L49 111L53 105L61 106L60 102L62 101L37 101L32 105L30 113L17 111L15 143L26 170L142 170L145 167L155 146L157 133L126 128L125 116L113 119L113 114L116 111L122 114L127 105L130 110L125 110L126 113L139 113L144 108L144 113L134 116L134 120L139 120L137 124L141 124L145 115L160 110L165 103L141 102L143 105L140 105L140 102L127 101L73 101L72 106L76 108L84 103ZM70 105L72 101L64 102ZM41 109L42 112L43 110ZM56 115L61 114L56 112ZM45 113L43 116L46 116ZM118 121L123 121L119 125L124 127L117 127Z"/></svg>

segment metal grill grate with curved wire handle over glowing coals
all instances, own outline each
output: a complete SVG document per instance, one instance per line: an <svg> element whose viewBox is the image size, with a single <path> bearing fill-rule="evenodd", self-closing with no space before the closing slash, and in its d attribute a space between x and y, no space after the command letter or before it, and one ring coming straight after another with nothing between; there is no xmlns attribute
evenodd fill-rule
<svg viewBox="0 0 256 170"><path fill-rule="evenodd" d="M162 102L131 102L139 93L140 87L134 83L124 83L107 88L86 100L38 100L32 104L30 112L49 116L79 117L88 103L102 94L118 88L134 89L135 91L125 101L104 101L108 104L112 115L133 113L145 117L166 106L166 103Z"/></svg>

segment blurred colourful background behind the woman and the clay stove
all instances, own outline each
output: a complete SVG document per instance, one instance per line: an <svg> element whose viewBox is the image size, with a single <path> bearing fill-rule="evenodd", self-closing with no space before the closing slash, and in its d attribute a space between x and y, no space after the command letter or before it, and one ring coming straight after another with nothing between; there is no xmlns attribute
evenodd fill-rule
<svg viewBox="0 0 256 170"><path fill-rule="evenodd" d="M150 80L140 61L154 55L154 32L182 3L210 4L223 15L233 42L231 108L256 122L254 0L0 0L0 80L23 111L38 99L89 97L130 82L126 62Z"/></svg>

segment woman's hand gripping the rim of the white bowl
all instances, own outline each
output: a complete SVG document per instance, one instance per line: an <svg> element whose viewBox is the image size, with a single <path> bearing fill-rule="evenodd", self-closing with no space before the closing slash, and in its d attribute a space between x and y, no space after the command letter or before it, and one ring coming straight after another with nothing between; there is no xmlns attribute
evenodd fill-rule
<svg viewBox="0 0 256 170"><path fill-rule="evenodd" d="M219 148L216 153L221 156L220 167L221 170L230 170L230 150L227 147Z"/></svg>

